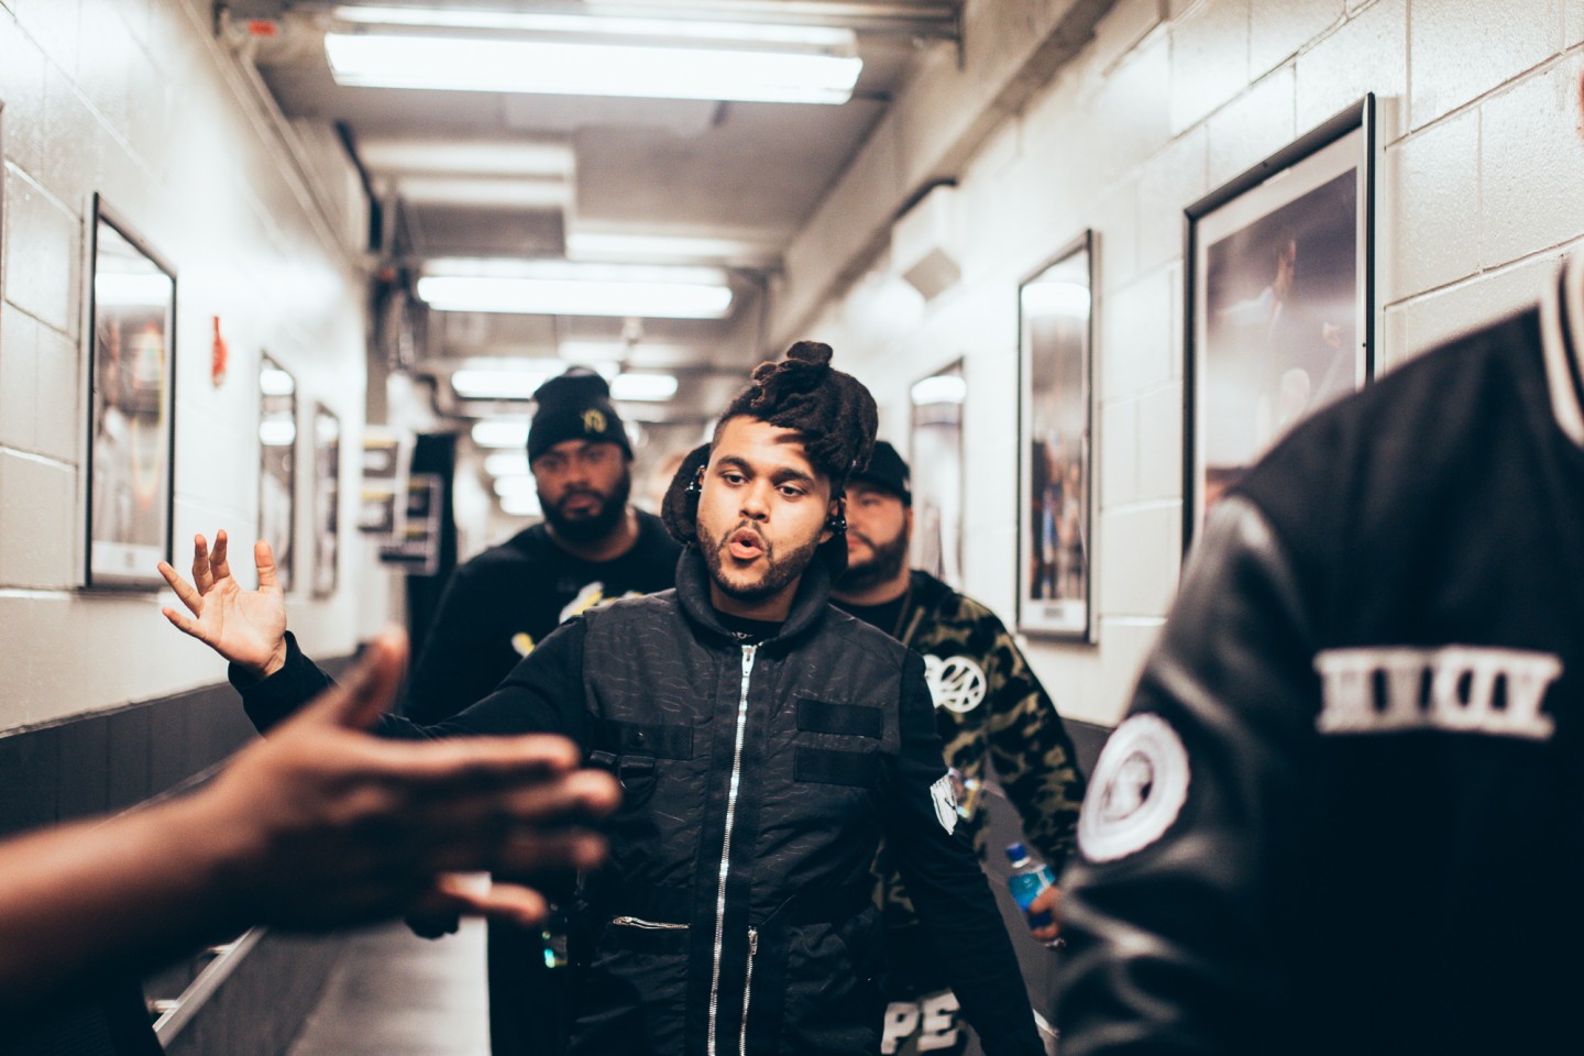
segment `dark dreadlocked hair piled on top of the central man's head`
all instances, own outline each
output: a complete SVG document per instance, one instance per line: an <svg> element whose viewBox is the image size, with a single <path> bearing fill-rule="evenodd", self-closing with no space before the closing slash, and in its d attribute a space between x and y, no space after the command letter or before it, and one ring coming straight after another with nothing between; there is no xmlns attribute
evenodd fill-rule
<svg viewBox="0 0 1584 1056"><path fill-rule="evenodd" d="M721 415L721 424L746 415L794 429L803 437L808 461L830 478L835 496L849 473L870 464L879 415L870 389L832 369L830 356L830 345L800 340L784 359L759 364L748 388Z"/></svg>

